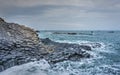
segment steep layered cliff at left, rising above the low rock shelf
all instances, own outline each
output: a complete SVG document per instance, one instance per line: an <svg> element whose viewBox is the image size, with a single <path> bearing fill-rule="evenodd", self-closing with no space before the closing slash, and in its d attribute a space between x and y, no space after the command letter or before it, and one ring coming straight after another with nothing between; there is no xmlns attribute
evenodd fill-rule
<svg viewBox="0 0 120 75"><path fill-rule="evenodd" d="M0 71L40 59L42 46L39 43L33 29L0 18Z"/></svg>

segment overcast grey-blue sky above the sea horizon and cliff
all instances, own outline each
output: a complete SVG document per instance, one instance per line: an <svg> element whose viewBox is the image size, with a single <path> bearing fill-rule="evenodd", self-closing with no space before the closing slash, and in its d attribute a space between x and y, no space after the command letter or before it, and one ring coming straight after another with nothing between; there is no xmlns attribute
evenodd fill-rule
<svg viewBox="0 0 120 75"><path fill-rule="evenodd" d="M0 0L0 17L38 30L120 30L120 0Z"/></svg>

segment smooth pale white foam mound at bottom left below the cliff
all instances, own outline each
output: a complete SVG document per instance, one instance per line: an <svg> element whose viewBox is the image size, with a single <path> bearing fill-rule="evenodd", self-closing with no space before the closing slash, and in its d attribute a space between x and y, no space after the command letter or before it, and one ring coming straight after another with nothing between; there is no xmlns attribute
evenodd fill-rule
<svg viewBox="0 0 120 75"><path fill-rule="evenodd" d="M44 70L49 67L48 62L43 59L20 66L14 66L1 72L0 75L47 75Z"/></svg>

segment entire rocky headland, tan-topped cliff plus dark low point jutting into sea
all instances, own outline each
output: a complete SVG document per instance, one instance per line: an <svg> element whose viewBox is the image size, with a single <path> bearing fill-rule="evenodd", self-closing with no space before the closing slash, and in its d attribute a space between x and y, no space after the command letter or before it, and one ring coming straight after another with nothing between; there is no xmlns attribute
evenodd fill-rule
<svg viewBox="0 0 120 75"><path fill-rule="evenodd" d="M100 44L95 45L100 47ZM40 59L50 64L65 60L79 61L90 58L88 45L58 43L49 38L41 39L35 30L0 18L0 71L15 65Z"/></svg>

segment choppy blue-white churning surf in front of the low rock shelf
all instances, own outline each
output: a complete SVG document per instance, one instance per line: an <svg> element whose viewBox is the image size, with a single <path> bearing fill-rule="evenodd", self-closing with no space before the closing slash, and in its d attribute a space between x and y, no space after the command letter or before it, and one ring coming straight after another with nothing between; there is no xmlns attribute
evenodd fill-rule
<svg viewBox="0 0 120 75"><path fill-rule="evenodd" d="M104 64L100 61L95 63L95 61L98 59L81 60L80 62L64 61L57 63L53 70L63 71L67 75L120 75L120 66Z"/></svg>

